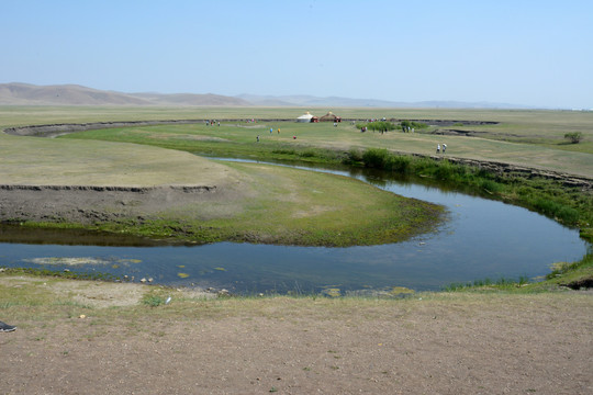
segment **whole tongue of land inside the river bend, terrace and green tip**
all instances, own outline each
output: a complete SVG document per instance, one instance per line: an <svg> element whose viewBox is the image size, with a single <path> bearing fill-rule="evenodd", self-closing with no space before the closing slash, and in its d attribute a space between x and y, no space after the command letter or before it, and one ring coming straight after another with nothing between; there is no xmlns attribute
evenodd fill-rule
<svg viewBox="0 0 593 395"><path fill-rule="evenodd" d="M12 181L0 185L0 221L8 224L86 228L171 242L353 246L405 240L443 219L443 207L346 177L219 163L128 144L85 142L85 150L59 155L72 146L81 148L81 142L47 140L57 144L45 147L35 163L41 169L31 173L25 151L32 140L22 138L15 145L26 149L0 163L2 179ZM89 150L102 158L94 162L97 170L88 165L71 168L88 161ZM135 160L128 163L131 151ZM186 165L171 173L180 184L158 185L169 170L167 161ZM92 183L76 183L82 180Z"/></svg>

